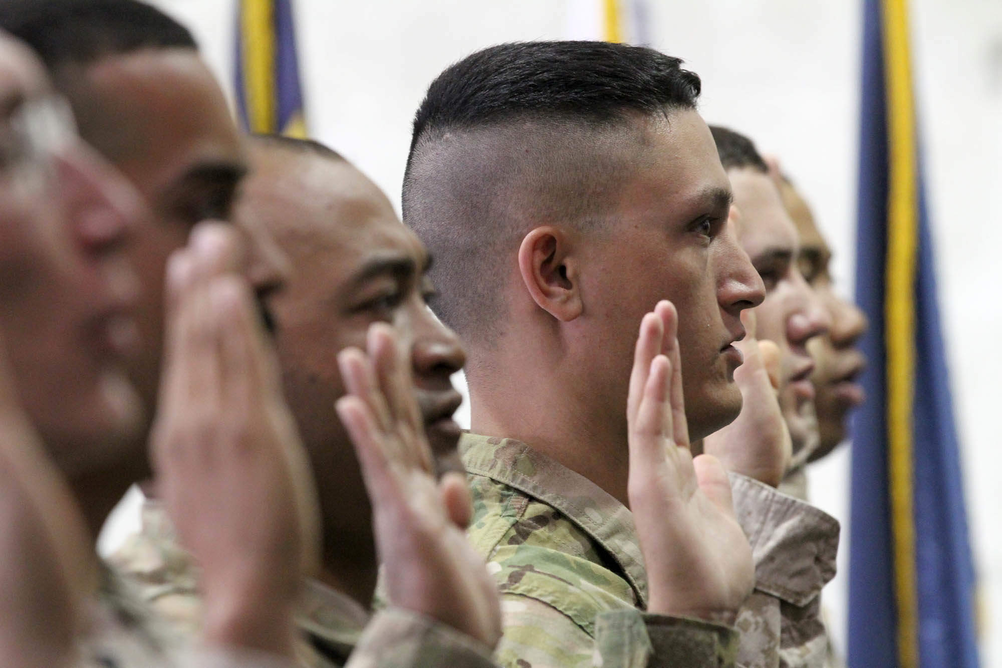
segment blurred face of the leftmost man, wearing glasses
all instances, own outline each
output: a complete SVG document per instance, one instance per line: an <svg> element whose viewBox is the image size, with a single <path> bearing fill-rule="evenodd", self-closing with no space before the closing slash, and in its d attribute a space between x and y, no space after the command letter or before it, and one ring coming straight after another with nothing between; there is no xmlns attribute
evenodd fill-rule
<svg viewBox="0 0 1002 668"><path fill-rule="evenodd" d="M113 437L138 421L123 243L140 203L75 135L34 56L3 36L0 152L0 336L25 409L73 475L114 460Z"/></svg>

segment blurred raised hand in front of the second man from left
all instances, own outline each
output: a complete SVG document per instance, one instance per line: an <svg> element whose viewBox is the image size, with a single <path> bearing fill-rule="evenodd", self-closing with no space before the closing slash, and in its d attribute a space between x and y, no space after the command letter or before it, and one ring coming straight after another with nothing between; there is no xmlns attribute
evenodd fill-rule
<svg viewBox="0 0 1002 668"><path fill-rule="evenodd" d="M241 265L240 239L212 223L168 263L154 483L200 567L204 643L292 657L319 510Z"/></svg>

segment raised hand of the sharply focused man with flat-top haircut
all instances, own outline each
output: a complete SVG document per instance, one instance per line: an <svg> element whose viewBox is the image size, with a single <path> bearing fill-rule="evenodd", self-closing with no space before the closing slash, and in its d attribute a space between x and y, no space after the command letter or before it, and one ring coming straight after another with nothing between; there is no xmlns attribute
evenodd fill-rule
<svg viewBox="0 0 1002 668"><path fill-rule="evenodd" d="M627 491L647 611L732 623L755 584L752 548L720 462L689 450L677 327L670 302L643 317L627 401Z"/></svg>

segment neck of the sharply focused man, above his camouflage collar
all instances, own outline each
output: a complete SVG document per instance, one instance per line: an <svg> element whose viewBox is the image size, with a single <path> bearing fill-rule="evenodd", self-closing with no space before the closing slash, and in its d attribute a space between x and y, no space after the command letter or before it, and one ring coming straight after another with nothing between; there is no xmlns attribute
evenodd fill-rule
<svg viewBox="0 0 1002 668"><path fill-rule="evenodd" d="M541 375L540 368L575 365L529 365L510 368L500 378L470 380L471 430L488 436L515 438L555 459L628 506L629 474L626 440L626 400L610 405L593 383ZM512 385L511 383L514 383Z"/></svg>

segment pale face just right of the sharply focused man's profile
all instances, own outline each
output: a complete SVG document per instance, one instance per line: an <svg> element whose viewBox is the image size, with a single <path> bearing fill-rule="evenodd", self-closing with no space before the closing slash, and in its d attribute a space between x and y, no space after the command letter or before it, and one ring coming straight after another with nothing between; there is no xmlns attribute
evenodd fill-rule
<svg viewBox="0 0 1002 668"><path fill-rule="evenodd" d="M766 301L756 309L758 335L780 348L780 407L796 452L816 445L810 380L815 362L807 342L827 331L829 318L801 275L797 229L772 179L753 169L730 170L728 176L741 216L741 245L766 285Z"/></svg>

